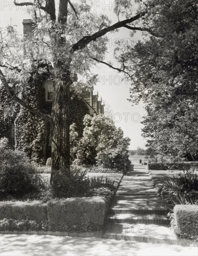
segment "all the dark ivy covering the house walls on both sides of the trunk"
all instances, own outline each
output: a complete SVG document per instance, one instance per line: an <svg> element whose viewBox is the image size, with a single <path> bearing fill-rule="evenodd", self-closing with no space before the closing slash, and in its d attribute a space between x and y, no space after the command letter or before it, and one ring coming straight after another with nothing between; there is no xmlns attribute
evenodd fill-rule
<svg viewBox="0 0 198 256"><path fill-rule="evenodd" d="M43 79L39 76L37 78L32 77L28 86L24 88L22 98L26 97L29 104L34 108L41 109L46 114L51 114L52 103L45 100L43 82ZM15 148L25 152L33 161L45 164L47 157L51 154L49 147L50 128L47 121L11 101L3 88L0 89L0 102L3 102L3 107L0 109L0 138L7 137L12 145L11 128L14 124ZM7 111L12 110L12 104L13 114L7 113L6 115ZM78 94L71 92L70 118L71 124L75 123L75 129L78 133L76 140L82 137L83 119L86 114L89 114L86 102Z"/></svg>

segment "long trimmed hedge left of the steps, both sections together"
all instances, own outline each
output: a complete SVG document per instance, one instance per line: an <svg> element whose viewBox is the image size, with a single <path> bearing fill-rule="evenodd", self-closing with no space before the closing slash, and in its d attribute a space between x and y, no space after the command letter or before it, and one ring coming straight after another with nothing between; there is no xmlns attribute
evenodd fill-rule
<svg viewBox="0 0 198 256"><path fill-rule="evenodd" d="M51 200L47 203L1 202L0 229L86 232L101 230L106 214L102 196Z"/></svg>

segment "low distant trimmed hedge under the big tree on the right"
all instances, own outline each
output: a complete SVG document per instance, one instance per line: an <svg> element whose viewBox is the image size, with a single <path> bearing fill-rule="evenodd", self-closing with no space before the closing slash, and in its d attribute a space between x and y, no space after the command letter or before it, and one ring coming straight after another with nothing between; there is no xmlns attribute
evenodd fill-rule
<svg viewBox="0 0 198 256"><path fill-rule="evenodd" d="M198 162L175 162L175 163L148 163L148 170L190 170L190 168L198 168Z"/></svg>

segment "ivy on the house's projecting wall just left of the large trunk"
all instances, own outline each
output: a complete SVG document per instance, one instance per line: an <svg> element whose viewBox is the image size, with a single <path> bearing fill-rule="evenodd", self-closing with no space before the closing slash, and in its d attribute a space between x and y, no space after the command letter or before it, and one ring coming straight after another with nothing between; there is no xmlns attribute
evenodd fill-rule
<svg viewBox="0 0 198 256"><path fill-rule="evenodd" d="M22 97L24 95L26 95L29 103L34 108L45 108L43 105L43 102L45 102L45 88L40 77L32 78L29 81ZM24 151L35 162L45 164L48 136L48 123L25 108L20 107L19 114L15 119L15 148Z"/></svg>

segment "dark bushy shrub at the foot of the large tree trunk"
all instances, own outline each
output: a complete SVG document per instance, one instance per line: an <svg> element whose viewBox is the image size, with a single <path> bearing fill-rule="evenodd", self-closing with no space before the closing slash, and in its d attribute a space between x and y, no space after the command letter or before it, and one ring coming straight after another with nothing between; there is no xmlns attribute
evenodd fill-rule
<svg viewBox="0 0 198 256"><path fill-rule="evenodd" d="M80 171L79 168L71 168L70 173L60 170L53 179L52 193L58 198L85 196L88 191L86 171Z"/></svg>

